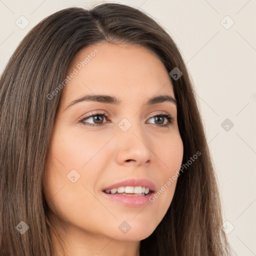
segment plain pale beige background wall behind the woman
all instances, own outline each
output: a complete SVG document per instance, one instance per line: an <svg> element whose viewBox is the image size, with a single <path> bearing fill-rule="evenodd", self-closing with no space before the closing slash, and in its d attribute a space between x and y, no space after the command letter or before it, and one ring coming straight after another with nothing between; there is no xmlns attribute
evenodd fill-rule
<svg viewBox="0 0 256 256"><path fill-rule="evenodd" d="M42 18L61 8L100 2L0 0L0 72ZM177 43L196 89L218 176L223 228L238 256L256 255L256 0L112 2L145 11Z"/></svg>

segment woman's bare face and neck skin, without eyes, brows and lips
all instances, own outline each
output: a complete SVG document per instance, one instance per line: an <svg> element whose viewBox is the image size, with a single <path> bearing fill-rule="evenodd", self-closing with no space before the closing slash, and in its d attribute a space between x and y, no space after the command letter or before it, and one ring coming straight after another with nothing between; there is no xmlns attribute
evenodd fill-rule
<svg viewBox="0 0 256 256"><path fill-rule="evenodd" d="M148 49L139 45L100 43L80 50L67 75L77 63L98 49L98 54L62 89L55 116L44 172L44 192L50 219L64 239L68 255L138 256L139 241L148 237L165 215L176 180L154 202L142 207L122 205L102 195L102 189L125 178L147 178L156 191L175 174L182 163L183 144L173 102L145 105L148 98L174 93L167 70ZM76 68L77 69L77 68ZM68 104L85 94L107 94L120 105L84 101ZM102 126L78 121L106 112ZM173 122L154 120L168 113ZM127 131L118 123L126 118ZM109 122L107 122L109 121ZM95 124L95 119L85 120ZM129 160L129 161L127 161ZM80 178L72 183L67 174L75 169ZM128 222L122 233L118 226ZM54 256L62 255L50 232Z"/></svg>

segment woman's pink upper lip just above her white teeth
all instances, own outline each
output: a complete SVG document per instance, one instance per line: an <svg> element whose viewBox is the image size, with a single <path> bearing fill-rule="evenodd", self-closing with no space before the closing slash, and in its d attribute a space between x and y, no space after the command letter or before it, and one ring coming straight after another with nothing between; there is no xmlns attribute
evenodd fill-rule
<svg viewBox="0 0 256 256"><path fill-rule="evenodd" d="M128 178L122 181L116 182L108 187L105 187L104 190L110 190L112 188L118 188L120 186L144 186L148 187L152 192L155 191L155 185L153 182L146 178Z"/></svg>

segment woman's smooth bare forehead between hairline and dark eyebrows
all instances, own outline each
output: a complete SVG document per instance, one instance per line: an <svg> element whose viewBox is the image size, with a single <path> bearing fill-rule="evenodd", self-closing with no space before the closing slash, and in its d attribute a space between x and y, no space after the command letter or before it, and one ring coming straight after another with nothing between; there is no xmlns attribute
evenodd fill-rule
<svg viewBox="0 0 256 256"><path fill-rule="evenodd" d="M100 43L85 47L73 57L66 75L71 73L75 75L62 92L64 104L86 93L136 100L157 94L174 97L165 66L140 45Z"/></svg>

